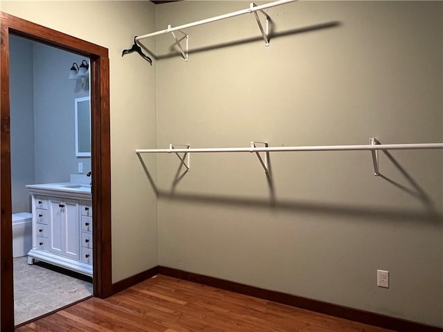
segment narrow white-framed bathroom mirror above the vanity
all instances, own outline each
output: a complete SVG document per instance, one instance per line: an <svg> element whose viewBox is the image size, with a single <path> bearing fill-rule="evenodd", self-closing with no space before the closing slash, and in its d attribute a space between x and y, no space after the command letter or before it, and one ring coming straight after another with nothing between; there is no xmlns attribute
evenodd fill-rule
<svg viewBox="0 0 443 332"><path fill-rule="evenodd" d="M91 103L89 97L75 98L75 156L91 156Z"/></svg>

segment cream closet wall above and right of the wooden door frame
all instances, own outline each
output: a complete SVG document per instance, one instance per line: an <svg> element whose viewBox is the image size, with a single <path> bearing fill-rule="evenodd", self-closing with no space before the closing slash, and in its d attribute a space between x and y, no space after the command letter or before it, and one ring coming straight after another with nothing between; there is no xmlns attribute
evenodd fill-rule
<svg viewBox="0 0 443 332"><path fill-rule="evenodd" d="M136 54L121 56L134 35L154 30L154 5L1 1L1 10L109 49L112 279L118 282L156 266L156 198L134 153L156 146L155 66Z"/></svg>

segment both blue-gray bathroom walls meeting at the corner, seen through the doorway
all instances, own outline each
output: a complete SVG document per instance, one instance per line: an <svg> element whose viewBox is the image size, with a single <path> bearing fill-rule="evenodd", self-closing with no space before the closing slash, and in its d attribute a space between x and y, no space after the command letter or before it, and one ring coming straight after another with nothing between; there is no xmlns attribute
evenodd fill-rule
<svg viewBox="0 0 443 332"><path fill-rule="evenodd" d="M89 82L67 80L73 62L87 59L51 46L12 37L12 211L30 211L25 185L69 181L91 170L91 158L75 156L74 99L89 95Z"/></svg>

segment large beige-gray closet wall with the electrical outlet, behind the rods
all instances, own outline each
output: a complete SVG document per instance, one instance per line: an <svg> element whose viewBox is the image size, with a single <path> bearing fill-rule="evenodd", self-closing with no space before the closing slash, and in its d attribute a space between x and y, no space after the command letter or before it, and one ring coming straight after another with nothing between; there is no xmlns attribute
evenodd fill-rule
<svg viewBox="0 0 443 332"><path fill-rule="evenodd" d="M182 1L157 30L248 8ZM190 28L157 62L158 147L442 142L440 1L300 1ZM244 40L251 42L242 42ZM172 37L156 39L169 54ZM159 264L443 326L442 151L159 156ZM377 287L377 269L390 288ZM419 275L419 277L417 277Z"/></svg>

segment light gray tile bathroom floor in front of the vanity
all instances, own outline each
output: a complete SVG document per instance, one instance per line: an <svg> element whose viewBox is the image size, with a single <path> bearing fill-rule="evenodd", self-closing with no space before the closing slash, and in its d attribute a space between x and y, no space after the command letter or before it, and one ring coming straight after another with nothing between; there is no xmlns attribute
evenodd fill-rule
<svg viewBox="0 0 443 332"><path fill-rule="evenodd" d="M14 259L15 325L92 295L91 280L77 279L37 264L28 265L27 259Z"/></svg>

